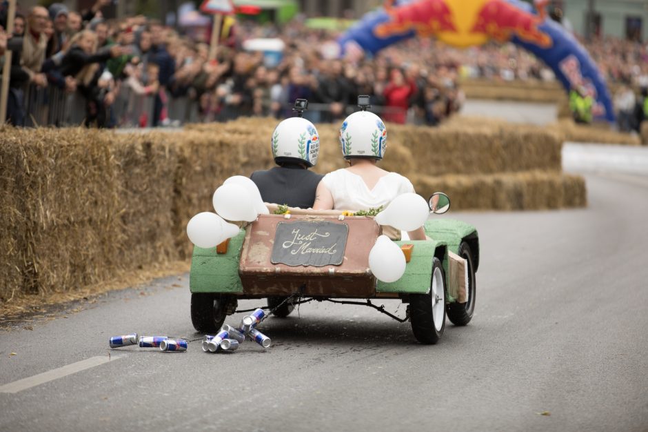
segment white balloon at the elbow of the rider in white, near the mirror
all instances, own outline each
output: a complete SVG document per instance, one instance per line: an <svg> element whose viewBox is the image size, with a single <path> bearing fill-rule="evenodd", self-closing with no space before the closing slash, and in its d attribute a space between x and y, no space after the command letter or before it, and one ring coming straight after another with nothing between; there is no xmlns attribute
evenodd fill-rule
<svg viewBox="0 0 648 432"><path fill-rule="evenodd" d="M425 224L429 216L429 206L421 195L403 193L392 199L385 210L376 215L376 222L390 225L403 231L413 231Z"/></svg>

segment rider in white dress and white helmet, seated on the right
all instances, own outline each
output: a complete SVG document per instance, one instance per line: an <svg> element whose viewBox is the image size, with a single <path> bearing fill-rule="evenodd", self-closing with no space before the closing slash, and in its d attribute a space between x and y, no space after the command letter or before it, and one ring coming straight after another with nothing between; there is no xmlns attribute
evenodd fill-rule
<svg viewBox="0 0 648 432"><path fill-rule="evenodd" d="M373 112L358 111L347 117L340 129L340 144L350 166L324 176L317 186L314 210L385 208L398 195L414 192L406 177L376 166L385 155L387 129ZM412 240L425 240L422 226L408 235Z"/></svg>

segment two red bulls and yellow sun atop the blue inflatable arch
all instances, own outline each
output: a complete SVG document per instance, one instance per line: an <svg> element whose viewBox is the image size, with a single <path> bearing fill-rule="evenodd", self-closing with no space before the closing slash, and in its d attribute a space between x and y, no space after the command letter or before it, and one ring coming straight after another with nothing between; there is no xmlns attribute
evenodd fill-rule
<svg viewBox="0 0 648 432"><path fill-rule="evenodd" d="M436 37L453 46L472 46L489 39L504 42L512 37L550 48L553 41L538 26L540 17L505 0L421 0L396 8L387 2L389 20L374 28L387 38L414 30L421 37Z"/></svg>

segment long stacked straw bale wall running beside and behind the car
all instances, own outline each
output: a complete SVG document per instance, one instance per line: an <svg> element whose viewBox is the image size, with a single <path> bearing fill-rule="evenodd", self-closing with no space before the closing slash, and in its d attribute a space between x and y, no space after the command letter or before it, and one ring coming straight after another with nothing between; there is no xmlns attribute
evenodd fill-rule
<svg viewBox="0 0 648 432"><path fill-rule="evenodd" d="M186 259L189 219L213 211L232 175L274 166L275 119L125 135L72 129L0 134L0 300L106 282ZM389 124L381 166L421 195L444 190L453 208L585 205L580 177L560 173L560 134L503 122L441 128ZM318 125L320 173L343 168L338 125Z"/></svg>

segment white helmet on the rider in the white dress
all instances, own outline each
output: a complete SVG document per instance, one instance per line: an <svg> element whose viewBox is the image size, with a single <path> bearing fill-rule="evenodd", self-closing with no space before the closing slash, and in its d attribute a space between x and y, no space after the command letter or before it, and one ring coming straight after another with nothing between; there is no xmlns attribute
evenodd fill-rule
<svg viewBox="0 0 648 432"><path fill-rule="evenodd" d="M345 159L372 157L381 160L387 148L387 128L373 112L354 112L342 124L340 145Z"/></svg>

